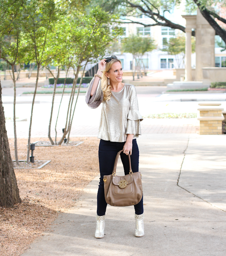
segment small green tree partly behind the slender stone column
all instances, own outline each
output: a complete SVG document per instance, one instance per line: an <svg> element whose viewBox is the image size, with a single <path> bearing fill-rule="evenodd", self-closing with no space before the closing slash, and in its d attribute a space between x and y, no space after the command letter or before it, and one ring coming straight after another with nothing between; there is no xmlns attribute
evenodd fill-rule
<svg viewBox="0 0 226 256"><path fill-rule="evenodd" d="M195 38L192 37L192 53L195 52ZM163 52L168 52L169 55L175 55L175 59L177 62L178 68L184 65L184 57L185 57L185 37L183 35L179 35L177 37L169 38L169 41L164 42ZM182 58L181 58L182 55Z"/></svg>

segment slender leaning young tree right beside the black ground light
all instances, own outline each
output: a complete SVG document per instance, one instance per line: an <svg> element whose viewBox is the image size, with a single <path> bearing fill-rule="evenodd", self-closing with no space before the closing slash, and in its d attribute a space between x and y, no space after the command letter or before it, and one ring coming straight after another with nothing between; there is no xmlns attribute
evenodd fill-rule
<svg viewBox="0 0 226 256"><path fill-rule="evenodd" d="M50 39L50 31L57 20L58 11L54 3L54 0L30 0L23 5L23 15L22 28L24 31L24 42L26 42L28 52L27 52L27 62L32 61L37 65L37 77L35 84L35 91L31 106L31 118L29 126L28 135L28 148L27 148L27 163L29 162L30 155L30 143L31 143L31 125L33 108L35 102L36 91L38 87L38 77L39 71L42 65L47 62L46 58L46 42Z"/></svg>

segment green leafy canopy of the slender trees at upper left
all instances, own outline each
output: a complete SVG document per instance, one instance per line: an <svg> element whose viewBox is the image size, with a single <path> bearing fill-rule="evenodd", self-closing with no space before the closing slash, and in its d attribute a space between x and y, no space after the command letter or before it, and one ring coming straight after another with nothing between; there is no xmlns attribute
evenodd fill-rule
<svg viewBox="0 0 226 256"><path fill-rule="evenodd" d="M67 1L0 0L3 56L10 63L74 67L103 56L107 45L121 34L118 17L99 6L81 10L71 9Z"/></svg>

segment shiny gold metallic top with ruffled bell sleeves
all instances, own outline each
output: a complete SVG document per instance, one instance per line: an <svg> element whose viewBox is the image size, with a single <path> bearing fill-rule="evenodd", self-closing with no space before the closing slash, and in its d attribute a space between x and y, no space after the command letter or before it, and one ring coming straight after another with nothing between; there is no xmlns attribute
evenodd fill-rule
<svg viewBox="0 0 226 256"><path fill-rule="evenodd" d="M112 92L110 100L103 101L101 80L91 97L93 81L94 78L86 92L86 103L90 108L97 108L102 102L98 138L112 142L125 142L127 134L134 134L134 139L138 138L143 118L138 110L135 86L125 84L120 92Z"/></svg>

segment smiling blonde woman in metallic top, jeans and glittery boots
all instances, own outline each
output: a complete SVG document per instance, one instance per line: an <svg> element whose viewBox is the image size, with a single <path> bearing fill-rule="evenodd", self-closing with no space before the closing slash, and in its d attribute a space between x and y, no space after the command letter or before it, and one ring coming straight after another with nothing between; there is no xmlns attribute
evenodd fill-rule
<svg viewBox="0 0 226 256"><path fill-rule="evenodd" d="M99 168L100 182L97 194L97 225L96 238L104 237L106 200L104 195L104 175L113 172L117 153L120 154L125 175L129 173L128 154L131 156L133 172L138 171L139 149L136 138L141 134L140 121L142 116L138 111L136 89L133 85L122 83L121 61L116 56L102 59L99 69L91 80L86 103L90 108L97 108L102 102L102 112L99 125ZM134 205L136 230L135 236L144 235L143 197Z"/></svg>

